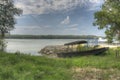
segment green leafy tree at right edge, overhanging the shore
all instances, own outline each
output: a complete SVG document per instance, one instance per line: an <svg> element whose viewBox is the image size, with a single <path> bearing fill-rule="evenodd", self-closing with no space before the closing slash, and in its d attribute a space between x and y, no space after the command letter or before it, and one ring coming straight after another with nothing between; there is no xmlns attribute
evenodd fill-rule
<svg viewBox="0 0 120 80"><path fill-rule="evenodd" d="M106 29L108 42L114 37L120 40L120 0L105 0L102 9L94 14L95 26Z"/></svg>

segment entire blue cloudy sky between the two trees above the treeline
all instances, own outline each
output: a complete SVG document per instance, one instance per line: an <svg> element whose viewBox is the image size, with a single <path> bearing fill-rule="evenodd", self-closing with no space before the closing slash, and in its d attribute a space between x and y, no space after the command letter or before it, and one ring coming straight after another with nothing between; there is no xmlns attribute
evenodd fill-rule
<svg viewBox="0 0 120 80"><path fill-rule="evenodd" d="M16 17L12 34L28 35L99 35L104 30L93 26L94 12L102 0L15 0L23 9Z"/></svg>

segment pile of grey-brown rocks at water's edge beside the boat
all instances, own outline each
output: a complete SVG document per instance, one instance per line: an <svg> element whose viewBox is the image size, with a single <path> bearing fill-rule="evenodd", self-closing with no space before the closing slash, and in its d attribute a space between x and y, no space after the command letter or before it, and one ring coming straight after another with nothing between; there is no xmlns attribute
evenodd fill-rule
<svg viewBox="0 0 120 80"><path fill-rule="evenodd" d="M41 49L40 53L43 55L52 55L54 57L57 57L58 53L68 52L71 48L68 48L64 45L55 45L55 46L46 46L43 49Z"/></svg>

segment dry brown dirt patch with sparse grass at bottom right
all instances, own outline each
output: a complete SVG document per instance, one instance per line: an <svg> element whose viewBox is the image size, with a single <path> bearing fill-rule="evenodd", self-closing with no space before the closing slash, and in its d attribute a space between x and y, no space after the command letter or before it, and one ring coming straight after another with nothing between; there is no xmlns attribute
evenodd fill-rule
<svg viewBox="0 0 120 80"><path fill-rule="evenodd" d="M73 68L73 80L120 80L118 69Z"/></svg>

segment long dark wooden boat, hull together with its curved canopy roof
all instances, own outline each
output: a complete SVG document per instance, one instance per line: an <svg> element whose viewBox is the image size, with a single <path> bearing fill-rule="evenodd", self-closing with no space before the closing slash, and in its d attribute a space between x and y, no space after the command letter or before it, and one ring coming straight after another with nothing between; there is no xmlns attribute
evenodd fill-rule
<svg viewBox="0 0 120 80"><path fill-rule="evenodd" d="M73 46L73 45L80 45L87 43L87 41L75 41L64 44L65 46ZM108 47L103 48L97 48L92 50L86 50L86 51L72 51L72 52L63 52L63 53L57 53L58 57L73 57L73 56L84 56L84 55L100 55L103 52L107 51Z"/></svg>

